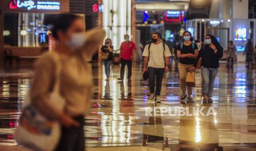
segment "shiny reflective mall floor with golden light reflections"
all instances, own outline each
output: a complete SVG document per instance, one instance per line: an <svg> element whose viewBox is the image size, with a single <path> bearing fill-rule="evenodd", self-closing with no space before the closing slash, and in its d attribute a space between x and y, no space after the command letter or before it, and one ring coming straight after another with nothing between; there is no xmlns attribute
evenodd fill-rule
<svg viewBox="0 0 256 151"><path fill-rule="evenodd" d="M112 66L109 82L100 64L92 68L92 110L84 127L88 150L256 150L256 68L222 64L212 104L201 103L197 72L195 103L186 105L179 103L175 63L165 74L160 104L146 101L148 82L141 80L139 65L133 65L131 82L117 80L118 65ZM15 143L13 133L31 78L25 66L0 71L0 150L28 150Z"/></svg>

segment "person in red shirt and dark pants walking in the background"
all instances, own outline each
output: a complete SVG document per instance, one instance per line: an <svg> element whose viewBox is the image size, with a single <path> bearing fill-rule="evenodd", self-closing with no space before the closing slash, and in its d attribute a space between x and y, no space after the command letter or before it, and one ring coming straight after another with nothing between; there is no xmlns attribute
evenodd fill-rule
<svg viewBox="0 0 256 151"><path fill-rule="evenodd" d="M122 42L120 47L120 61L121 61L121 71L119 80L124 78L124 69L127 65L128 67L128 80L132 77L132 61L135 51L137 50L135 44L130 41L128 34L124 35L125 42Z"/></svg>

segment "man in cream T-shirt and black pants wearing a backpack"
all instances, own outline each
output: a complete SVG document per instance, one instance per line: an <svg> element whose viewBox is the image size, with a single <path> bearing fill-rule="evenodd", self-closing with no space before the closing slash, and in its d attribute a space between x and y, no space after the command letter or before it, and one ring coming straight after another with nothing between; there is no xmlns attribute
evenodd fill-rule
<svg viewBox="0 0 256 151"><path fill-rule="evenodd" d="M171 56L170 49L166 44L161 43L161 39L162 35L160 33L152 34L152 43L145 46L142 54L144 56L143 72L149 72L150 96L148 101L153 101L155 98L157 103L161 103L162 78L164 77L164 72L169 71L169 59Z"/></svg>

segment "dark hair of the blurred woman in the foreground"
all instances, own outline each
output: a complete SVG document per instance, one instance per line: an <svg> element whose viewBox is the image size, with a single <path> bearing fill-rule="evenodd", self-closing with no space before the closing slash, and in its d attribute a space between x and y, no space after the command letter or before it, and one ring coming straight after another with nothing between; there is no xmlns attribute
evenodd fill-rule
<svg viewBox="0 0 256 151"><path fill-rule="evenodd" d="M74 14L59 14L56 16L55 22L53 22L52 36L58 39L58 30L67 31L72 25L73 21L79 19L80 16Z"/></svg>

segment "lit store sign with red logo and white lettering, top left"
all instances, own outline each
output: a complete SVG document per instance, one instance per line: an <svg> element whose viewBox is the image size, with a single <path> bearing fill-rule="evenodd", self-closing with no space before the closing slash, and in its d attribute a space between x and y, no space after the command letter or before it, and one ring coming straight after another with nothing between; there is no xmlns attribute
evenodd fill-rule
<svg viewBox="0 0 256 151"><path fill-rule="evenodd" d="M61 3L56 1L19 1L13 0L9 3L10 9L26 8L27 10L59 10Z"/></svg>

